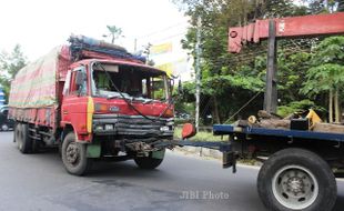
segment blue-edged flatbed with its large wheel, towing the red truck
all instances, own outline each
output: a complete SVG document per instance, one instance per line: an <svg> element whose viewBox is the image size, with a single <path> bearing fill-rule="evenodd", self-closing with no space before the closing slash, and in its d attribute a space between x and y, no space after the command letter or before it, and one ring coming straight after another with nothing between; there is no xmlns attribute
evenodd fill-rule
<svg viewBox="0 0 344 211"><path fill-rule="evenodd" d="M259 195L269 210L330 211L335 204L335 178L343 177L344 134L250 125L213 125L229 135L227 158L263 161Z"/></svg>

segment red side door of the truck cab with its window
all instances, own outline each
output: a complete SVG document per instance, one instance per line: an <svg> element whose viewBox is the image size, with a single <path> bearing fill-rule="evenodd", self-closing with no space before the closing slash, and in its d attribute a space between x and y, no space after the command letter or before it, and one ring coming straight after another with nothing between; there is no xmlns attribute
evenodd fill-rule
<svg viewBox="0 0 344 211"><path fill-rule="evenodd" d="M88 74L81 66L67 76L61 105L61 127L71 124L77 135L87 134Z"/></svg>

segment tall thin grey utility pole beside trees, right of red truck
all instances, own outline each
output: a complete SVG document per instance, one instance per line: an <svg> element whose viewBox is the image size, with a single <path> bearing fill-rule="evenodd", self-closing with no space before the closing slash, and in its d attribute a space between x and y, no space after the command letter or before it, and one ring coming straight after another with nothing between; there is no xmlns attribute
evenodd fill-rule
<svg viewBox="0 0 344 211"><path fill-rule="evenodd" d="M195 104L195 128L199 131L200 127L200 96L201 96L201 17L198 18L198 34L196 34L196 61L195 61L195 84L196 84L196 104Z"/></svg>

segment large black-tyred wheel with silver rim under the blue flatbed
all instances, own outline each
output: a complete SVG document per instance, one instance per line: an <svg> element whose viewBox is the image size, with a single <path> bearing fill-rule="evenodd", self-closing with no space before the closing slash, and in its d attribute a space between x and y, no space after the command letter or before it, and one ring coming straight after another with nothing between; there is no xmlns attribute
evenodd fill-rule
<svg viewBox="0 0 344 211"><path fill-rule="evenodd" d="M332 210L336 181L332 169L317 154L285 149L271 155L257 177L257 191L270 210Z"/></svg>

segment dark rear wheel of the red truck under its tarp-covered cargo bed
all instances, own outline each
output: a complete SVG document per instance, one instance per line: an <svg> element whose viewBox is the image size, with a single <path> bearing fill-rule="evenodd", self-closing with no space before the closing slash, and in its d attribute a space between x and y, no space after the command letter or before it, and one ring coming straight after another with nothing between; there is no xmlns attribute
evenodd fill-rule
<svg viewBox="0 0 344 211"><path fill-rule="evenodd" d="M19 151L23 154L30 153L32 149L32 140L29 137L29 124L20 123L17 125L17 128L19 129L18 129L18 135L16 137L16 141L18 143Z"/></svg>

